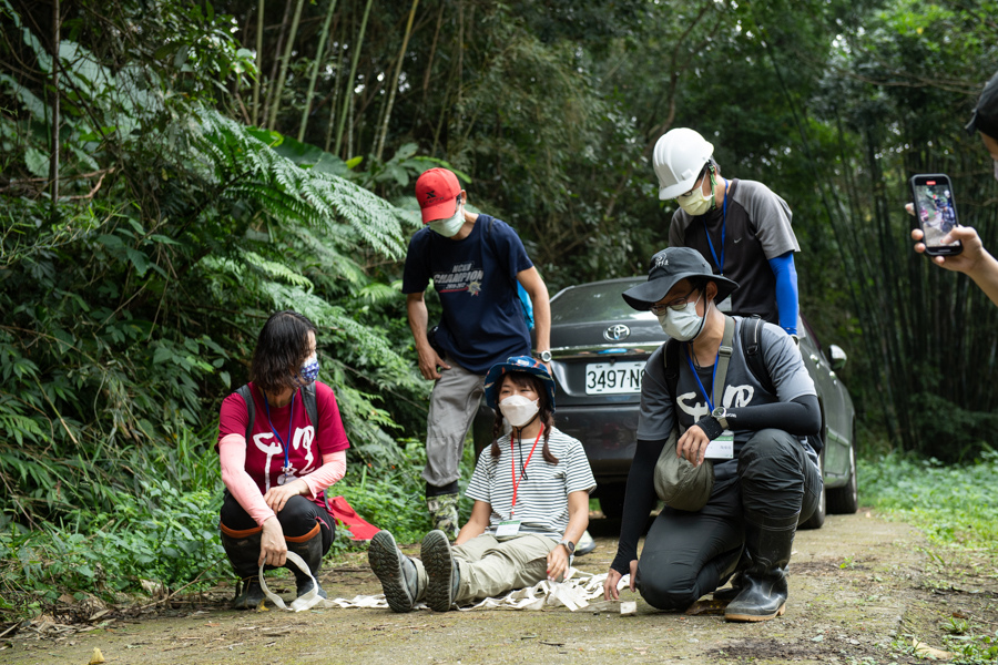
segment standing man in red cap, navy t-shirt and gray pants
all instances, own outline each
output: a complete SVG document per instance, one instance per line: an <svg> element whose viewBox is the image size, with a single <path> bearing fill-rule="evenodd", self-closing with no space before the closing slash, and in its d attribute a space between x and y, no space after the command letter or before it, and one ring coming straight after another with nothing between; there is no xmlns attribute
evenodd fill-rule
<svg viewBox="0 0 998 665"><path fill-rule="evenodd" d="M424 228L409 242L403 276L419 371L436 381L427 417L426 503L434 528L457 538L458 464L489 368L530 355L518 283L533 304L537 356L551 360L548 288L508 224L465 209L467 193L447 168L416 181ZM429 282L444 309L427 334Z"/></svg>

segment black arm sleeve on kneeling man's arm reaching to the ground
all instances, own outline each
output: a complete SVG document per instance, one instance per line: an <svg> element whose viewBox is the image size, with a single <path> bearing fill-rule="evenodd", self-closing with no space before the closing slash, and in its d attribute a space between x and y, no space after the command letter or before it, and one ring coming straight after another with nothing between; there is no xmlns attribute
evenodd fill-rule
<svg viewBox="0 0 998 665"><path fill-rule="evenodd" d="M665 439L638 441L631 471L628 473L628 491L624 494L617 556L610 564L610 567L621 575L630 574L631 562L638 559L638 541L655 504L655 462L659 461L664 447Z"/></svg>

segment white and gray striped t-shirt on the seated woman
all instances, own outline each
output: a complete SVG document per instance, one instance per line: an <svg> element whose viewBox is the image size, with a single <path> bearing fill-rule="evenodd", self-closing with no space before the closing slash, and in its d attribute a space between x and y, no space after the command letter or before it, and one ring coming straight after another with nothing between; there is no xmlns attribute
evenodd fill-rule
<svg viewBox="0 0 998 665"><path fill-rule="evenodd" d="M475 501L485 501L492 508L486 533L495 535L499 522L513 519L520 521L518 534L536 533L561 540L569 521L568 495L579 491L589 493L595 489L582 443L553 428L548 449L558 458L558 463L551 464L541 454L543 436L533 457L530 457L532 440L523 440L519 446L513 443L511 452L509 437L506 434L499 439L501 454L498 459L492 458L489 448L481 451L466 495ZM523 462L530 457L527 474L517 485L517 509L512 518L513 467L510 454L513 456L518 480Z"/></svg>

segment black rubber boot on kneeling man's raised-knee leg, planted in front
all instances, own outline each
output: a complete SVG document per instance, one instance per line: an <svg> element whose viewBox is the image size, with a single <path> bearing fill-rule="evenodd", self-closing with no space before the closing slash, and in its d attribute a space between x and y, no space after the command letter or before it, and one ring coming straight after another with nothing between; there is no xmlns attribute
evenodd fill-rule
<svg viewBox="0 0 998 665"><path fill-rule="evenodd" d="M724 608L727 621L768 621L786 611L786 565L797 530L797 518L745 515L745 555L742 590Z"/></svg>

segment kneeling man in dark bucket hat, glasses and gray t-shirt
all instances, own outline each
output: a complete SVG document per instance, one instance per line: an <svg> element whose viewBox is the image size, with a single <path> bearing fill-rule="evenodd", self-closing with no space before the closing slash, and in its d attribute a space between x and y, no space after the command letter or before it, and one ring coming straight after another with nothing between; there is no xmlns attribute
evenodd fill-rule
<svg viewBox="0 0 998 665"><path fill-rule="evenodd" d="M766 621L785 611L794 534L822 492L817 454L804 442L818 432L821 411L797 346L772 324L761 324L758 351L770 387L753 375L740 340L741 327L752 319L727 317L717 307L736 288L695 249L670 247L652 257L648 282L623 293L634 309L655 314L672 340L644 369L638 448L604 585L608 600L618 597L618 583L630 574L631 590L650 605L682 611L737 572L733 589L714 593L715 600L733 597L726 620ZM729 320L730 364L715 387ZM676 360L671 383L669 358ZM676 454L695 466L710 459L713 489L699 511L665 505L639 557L638 540L656 498L655 463L676 427Z"/></svg>

